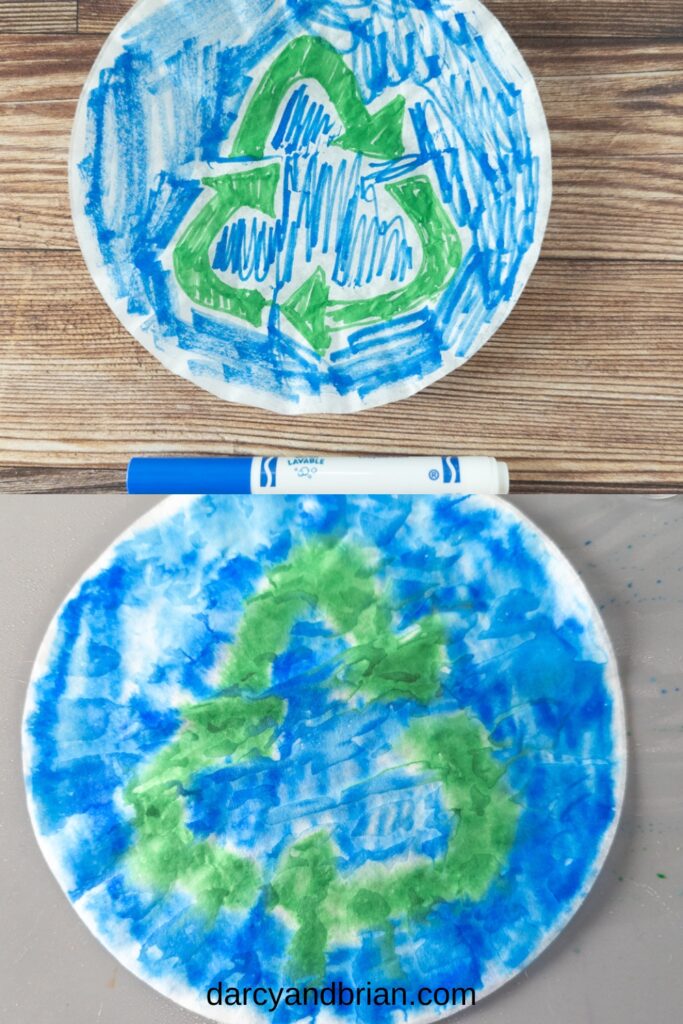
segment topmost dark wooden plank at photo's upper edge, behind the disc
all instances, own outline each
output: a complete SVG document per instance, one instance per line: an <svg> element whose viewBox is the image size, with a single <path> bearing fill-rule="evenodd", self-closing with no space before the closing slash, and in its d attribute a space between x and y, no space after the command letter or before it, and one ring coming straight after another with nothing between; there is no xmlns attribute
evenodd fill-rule
<svg viewBox="0 0 683 1024"><path fill-rule="evenodd" d="M513 37L680 39L680 0L487 0ZM81 32L111 32L130 0L79 0Z"/></svg>

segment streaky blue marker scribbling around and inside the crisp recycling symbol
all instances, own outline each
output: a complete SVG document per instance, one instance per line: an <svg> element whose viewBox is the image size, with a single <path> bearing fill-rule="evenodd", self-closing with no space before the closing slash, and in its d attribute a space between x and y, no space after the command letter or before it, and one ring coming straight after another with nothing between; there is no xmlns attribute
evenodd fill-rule
<svg viewBox="0 0 683 1024"><path fill-rule="evenodd" d="M266 160L282 164L276 217L243 211L210 253L225 280L260 286L270 313L260 330L206 309L188 314L169 253L202 196L200 178L251 166L229 159L247 96L302 35L333 41L367 104L405 97L407 153L386 162L333 147L343 131L337 112L319 87L298 85L266 148ZM540 157L519 70L500 59L451 0L165 5L127 32L88 97L78 173L113 295L143 317L160 354L191 353L199 383L220 379L294 406L323 389L370 399L438 372L446 353L466 357L522 283L539 212ZM306 265L326 268L339 301L408 285L420 247L385 185L412 173L429 175L456 225L460 269L409 316L335 333L319 359L293 335L280 302Z"/></svg>

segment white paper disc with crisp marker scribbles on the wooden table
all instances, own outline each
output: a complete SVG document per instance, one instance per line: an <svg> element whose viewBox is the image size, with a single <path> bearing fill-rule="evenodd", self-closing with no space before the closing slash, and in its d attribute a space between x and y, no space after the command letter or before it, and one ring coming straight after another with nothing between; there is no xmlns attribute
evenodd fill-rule
<svg viewBox="0 0 683 1024"><path fill-rule="evenodd" d="M139 0L87 80L70 183L92 276L166 367L347 413L503 323L539 255L550 142L477 0Z"/></svg>

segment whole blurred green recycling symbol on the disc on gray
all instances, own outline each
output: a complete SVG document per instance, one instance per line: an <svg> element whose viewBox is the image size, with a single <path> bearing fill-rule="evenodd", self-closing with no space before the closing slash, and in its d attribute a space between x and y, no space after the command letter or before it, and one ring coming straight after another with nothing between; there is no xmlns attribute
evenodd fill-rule
<svg viewBox="0 0 683 1024"><path fill-rule="evenodd" d="M218 695L182 709L174 738L124 793L132 814L134 842L126 856L133 877L161 896L185 893L209 927L221 911L248 913L263 900L289 925L288 974L296 981L324 978L331 950L357 942L361 933L379 938L390 964L396 926L424 919L444 902L483 898L516 834L520 808L485 727L465 709L430 713L447 670L442 622L427 613L396 630L396 608L378 588L375 571L367 553L350 544L313 540L295 548L267 573L265 588L247 599ZM393 714L409 702L411 717L393 757L398 769L415 773L417 786L425 779L440 786L451 818L440 855L343 870L333 834L299 824L266 877L244 847L226 848L188 827L193 788L207 784L212 772L226 764L244 771L253 765L258 777L265 765L278 763L288 699L272 692L271 666L311 610L346 641L326 685L357 716L359 737L368 728L364 707L379 702ZM313 749L315 728L308 727ZM356 754L351 743L348 757ZM284 761L282 770L290 778L296 767ZM381 772L387 771L384 763Z"/></svg>

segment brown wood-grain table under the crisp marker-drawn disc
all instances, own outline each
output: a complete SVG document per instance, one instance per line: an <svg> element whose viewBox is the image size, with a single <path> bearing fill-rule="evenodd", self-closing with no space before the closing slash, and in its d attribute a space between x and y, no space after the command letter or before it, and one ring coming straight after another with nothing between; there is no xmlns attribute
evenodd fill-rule
<svg viewBox="0 0 683 1024"><path fill-rule="evenodd" d="M76 100L128 0L0 0L0 488L123 487L134 454L492 454L516 490L683 488L683 0L489 0L554 146L542 259L465 367L350 417L179 380L90 282L67 197Z"/></svg>

